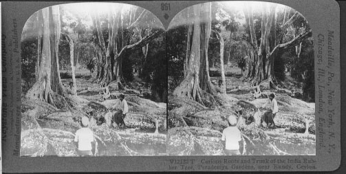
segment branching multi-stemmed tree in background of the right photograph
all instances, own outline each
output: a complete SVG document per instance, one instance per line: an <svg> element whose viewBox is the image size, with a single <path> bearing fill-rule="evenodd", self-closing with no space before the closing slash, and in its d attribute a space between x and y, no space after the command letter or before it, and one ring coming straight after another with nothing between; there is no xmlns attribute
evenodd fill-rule
<svg viewBox="0 0 346 174"><path fill-rule="evenodd" d="M255 36L255 24L253 21L252 8L251 6L244 8L246 23L248 23L250 28L251 45L251 52L248 60L248 76L246 78L250 80L252 85L259 85L259 83L267 79L270 83L276 82L277 80L274 77L274 58L276 56L281 56L279 50L296 46L298 47L297 50L299 52L298 41L307 39L307 36L310 35L305 32L304 34L296 36L292 41L282 44L281 41L283 40L283 35L287 33L287 29L292 26L292 23L298 19L300 14L296 12L289 18L290 9L285 8L281 31L277 34L275 9L275 5L270 6L269 10L267 10L266 6L264 7L261 15L261 43L258 47L257 38Z"/></svg>

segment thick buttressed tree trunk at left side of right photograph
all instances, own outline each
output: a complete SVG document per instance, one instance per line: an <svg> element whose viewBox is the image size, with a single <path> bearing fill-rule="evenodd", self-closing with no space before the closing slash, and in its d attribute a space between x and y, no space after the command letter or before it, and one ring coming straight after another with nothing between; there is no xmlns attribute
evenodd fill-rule
<svg viewBox="0 0 346 174"><path fill-rule="evenodd" d="M175 88L173 96L196 100L202 105L213 107L217 103L213 97L215 89L211 84L208 72L207 52L211 31L210 3L202 3L191 8L193 8L194 14L191 50L189 50L188 60L184 62L185 78Z"/></svg>

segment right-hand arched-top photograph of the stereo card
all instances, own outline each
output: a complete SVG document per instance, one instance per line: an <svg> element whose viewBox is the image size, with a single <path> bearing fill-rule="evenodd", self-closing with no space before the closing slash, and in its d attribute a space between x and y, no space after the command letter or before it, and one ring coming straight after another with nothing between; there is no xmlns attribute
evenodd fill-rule
<svg viewBox="0 0 346 174"><path fill-rule="evenodd" d="M302 13L222 1L175 16L168 155L316 155L314 40Z"/></svg>

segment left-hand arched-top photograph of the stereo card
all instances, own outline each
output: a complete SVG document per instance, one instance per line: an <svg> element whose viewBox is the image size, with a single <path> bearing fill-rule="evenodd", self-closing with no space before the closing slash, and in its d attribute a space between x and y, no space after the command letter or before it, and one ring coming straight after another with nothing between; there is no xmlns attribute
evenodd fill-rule
<svg viewBox="0 0 346 174"><path fill-rule="evenodd" d="M21 157L166 154L166 34L124 3L32 14L21 35Z"/></svg>

